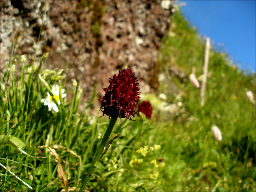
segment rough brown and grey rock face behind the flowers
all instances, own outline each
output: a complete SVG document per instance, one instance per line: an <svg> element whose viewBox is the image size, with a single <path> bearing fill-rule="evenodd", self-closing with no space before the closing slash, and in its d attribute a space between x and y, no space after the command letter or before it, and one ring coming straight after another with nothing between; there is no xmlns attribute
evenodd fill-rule
<svg viewBox="0 0 256 192"><path fill-rule="evenodd" d="M172 1L48 1L36 61L70 69L88 94L108 86L118 69L131 67L141 91L158 87L158 49L171 23ZM14 54L34 57L46 1L1 1L1 74ZM84 46L83 46L84 45Z"/></svg>

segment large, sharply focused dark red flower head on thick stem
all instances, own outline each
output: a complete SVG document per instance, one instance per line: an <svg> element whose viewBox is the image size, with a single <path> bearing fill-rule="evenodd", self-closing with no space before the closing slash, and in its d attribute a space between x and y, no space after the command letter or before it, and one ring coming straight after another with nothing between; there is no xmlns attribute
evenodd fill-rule
<svg viewBox="0 0 256 192"><path fill-rule="evenodd" d="M104 97L99 97L101 100L100 108L104 109L104 114L108 116L116 116L119 118L127 117L129 120L135 117L136 105L139 102L139 83L135 77L135 73L131 68L119 70L118 75L113 75L108 81L109 87L103 89L106 93ZM132 120L133 121L133 120Z"/></svg>

